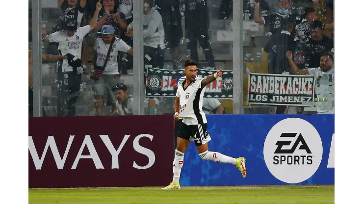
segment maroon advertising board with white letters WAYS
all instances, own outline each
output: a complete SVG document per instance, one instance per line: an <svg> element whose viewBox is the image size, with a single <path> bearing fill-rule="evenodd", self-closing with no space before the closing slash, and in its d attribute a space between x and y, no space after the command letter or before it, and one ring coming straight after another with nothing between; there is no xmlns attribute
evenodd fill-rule
<svg viewBox="0 0 363 204"><path fill-rule="evenodd" d="M171 115L31 117L28 140L29 188L163 186L173 177Z"/></svg>

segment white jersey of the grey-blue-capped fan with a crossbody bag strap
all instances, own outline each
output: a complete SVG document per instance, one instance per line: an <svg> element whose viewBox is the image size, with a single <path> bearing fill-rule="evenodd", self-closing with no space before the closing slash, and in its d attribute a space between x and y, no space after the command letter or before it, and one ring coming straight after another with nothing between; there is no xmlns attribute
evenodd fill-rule
<svg viewBox="0 0 363 204"><path fill-rule="evenodd" d="M96 39L94 50L97 51L97 66L104 66L104 61L106 60L107 52L111 44L105 44L102 40L102 36L99 36ZM112 45L112 50L110 52L110 56L108 57L108 62L106 67L104 68L104 74L106 75L118 75L119 74L119 66L117 63L117 53L119 51L127 52L131 48L128 44L126 44L120 38L116 38L115 42Z"/></svg>

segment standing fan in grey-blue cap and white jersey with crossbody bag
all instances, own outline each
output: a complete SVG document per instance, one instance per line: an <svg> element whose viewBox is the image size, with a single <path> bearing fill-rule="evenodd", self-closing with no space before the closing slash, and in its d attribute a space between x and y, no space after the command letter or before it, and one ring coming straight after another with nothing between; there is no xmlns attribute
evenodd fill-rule
<svg viewBox="0 0 363 204"><path fill-rule="evenodd" d="M95 42L95 53L93 54L96 67L103 68L108 50L111 49L107 64L103 74L99 80L94 80L94 96L96 99L97 114L102 115L104 105L104 96L108 95L108 101L112 103L112 111L116 110L116 98L111 91L111 88L116 84L121 83L120 69L118 66L118 52L126 52L132 54L132 48L120 38L117 38L114 33L113 26L105 25L102 27L102 36L97 37ZM111 42L113 41L112 47Z"/></svg>

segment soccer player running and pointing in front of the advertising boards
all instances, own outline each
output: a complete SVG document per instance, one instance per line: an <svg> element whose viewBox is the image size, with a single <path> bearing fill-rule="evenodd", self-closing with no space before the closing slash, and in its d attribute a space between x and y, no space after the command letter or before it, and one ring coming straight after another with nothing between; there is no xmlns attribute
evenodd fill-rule
<svg viewBox="0 0 363 204"><path fill-rule="evenodd" d="M178 145L173 161L173 182L162 190L180 189L181 167L183 166L184 153L190 141L194 141L202 159L233 164L242 173L243 178L246 178L246 159L244 157L232 158L221 153L208 151L207 142L210 141L210 135L207 133L206 114L202 110L204 88L216 78L222 77L222 69L207 78L200 78L197 77L197 66L196 61L186 60L184 64L185 77L181 77L178 81L174 119L178 121L181 118L183 121L178 133Z"/></svg>

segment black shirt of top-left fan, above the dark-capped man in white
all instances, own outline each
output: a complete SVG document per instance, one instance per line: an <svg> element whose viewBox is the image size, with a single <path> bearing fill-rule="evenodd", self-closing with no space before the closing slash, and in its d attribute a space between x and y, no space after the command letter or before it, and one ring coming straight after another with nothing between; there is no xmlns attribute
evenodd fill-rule
<svg viewBox="0 0 363 204"><path fill-rule="evenodd" d="M62 26L64 26L64 22L66 20L75 20L77 21L77 27L81 26L81 22L83 19L83 13L85 11L85 8L82 8L79 4L79 2L77 3L77 5L73 8L69 7L68 1L64 0L62 5L60 6L60 9L62 10L62 14L60 15L60 20L62 21ZM64 28L64 27L63 27Z"/></svg>

